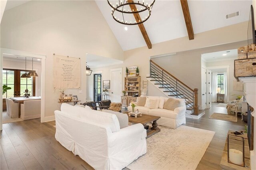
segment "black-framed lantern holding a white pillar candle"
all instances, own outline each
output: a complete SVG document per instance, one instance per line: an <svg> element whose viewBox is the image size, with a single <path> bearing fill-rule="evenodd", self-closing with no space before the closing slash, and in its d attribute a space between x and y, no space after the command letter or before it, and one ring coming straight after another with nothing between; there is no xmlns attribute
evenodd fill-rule
<svg viewBox="0 0 256 170"><path fill-rule="evenodd" d="M244 167L244 137L228 134L228 163Z"/></svg>

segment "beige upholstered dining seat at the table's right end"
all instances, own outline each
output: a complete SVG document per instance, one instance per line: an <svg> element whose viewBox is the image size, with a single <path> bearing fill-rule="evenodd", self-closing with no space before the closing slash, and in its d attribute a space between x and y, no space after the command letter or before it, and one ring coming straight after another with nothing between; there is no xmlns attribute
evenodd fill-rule
<svg viewBox="0 0 256 170"><path fill-rule="evenodd" d="M22 120L41 117L41 100L26 100L20 105L20 118Z"/></svg>

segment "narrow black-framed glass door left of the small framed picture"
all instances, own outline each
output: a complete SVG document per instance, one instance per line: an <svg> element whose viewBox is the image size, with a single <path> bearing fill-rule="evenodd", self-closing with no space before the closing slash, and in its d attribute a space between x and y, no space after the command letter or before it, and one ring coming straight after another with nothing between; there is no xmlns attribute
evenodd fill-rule
<svg viewBox="0 0 256 170"><path fill-rule="evenodd" d="M93 75L93 101L101 101L101 74Z"/></svg>

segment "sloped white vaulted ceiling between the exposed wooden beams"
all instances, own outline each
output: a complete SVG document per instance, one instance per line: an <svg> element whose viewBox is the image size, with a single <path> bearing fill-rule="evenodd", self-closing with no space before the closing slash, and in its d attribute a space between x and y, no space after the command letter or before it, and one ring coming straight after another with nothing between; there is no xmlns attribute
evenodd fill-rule
<svg viewBox="0 0 256 170"><path fill-rule="evenodd" d="M117 1L110 2L116 4ZM112 18L106 0L96 0L96 4L124 51L146 46L138 26L127 26L125 31L126 25ZM247 21L251 4L252 0L188 0L194 34ZM226 19L226 14L237 11L240 16ZM156 0L144 26L152 44L188 36L179 0Z"/></svg>

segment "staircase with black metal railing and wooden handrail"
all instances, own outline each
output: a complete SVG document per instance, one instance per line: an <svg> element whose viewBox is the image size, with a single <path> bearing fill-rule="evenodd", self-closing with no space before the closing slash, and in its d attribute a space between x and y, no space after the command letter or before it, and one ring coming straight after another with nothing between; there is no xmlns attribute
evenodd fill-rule
<svg viewBox="0 0 256 170"><path fill-rule="evenodd" d="M185 99L187 111L198 115L198 89L191 89L152 60L150 76L147 79L167 97Z"/></svg>

